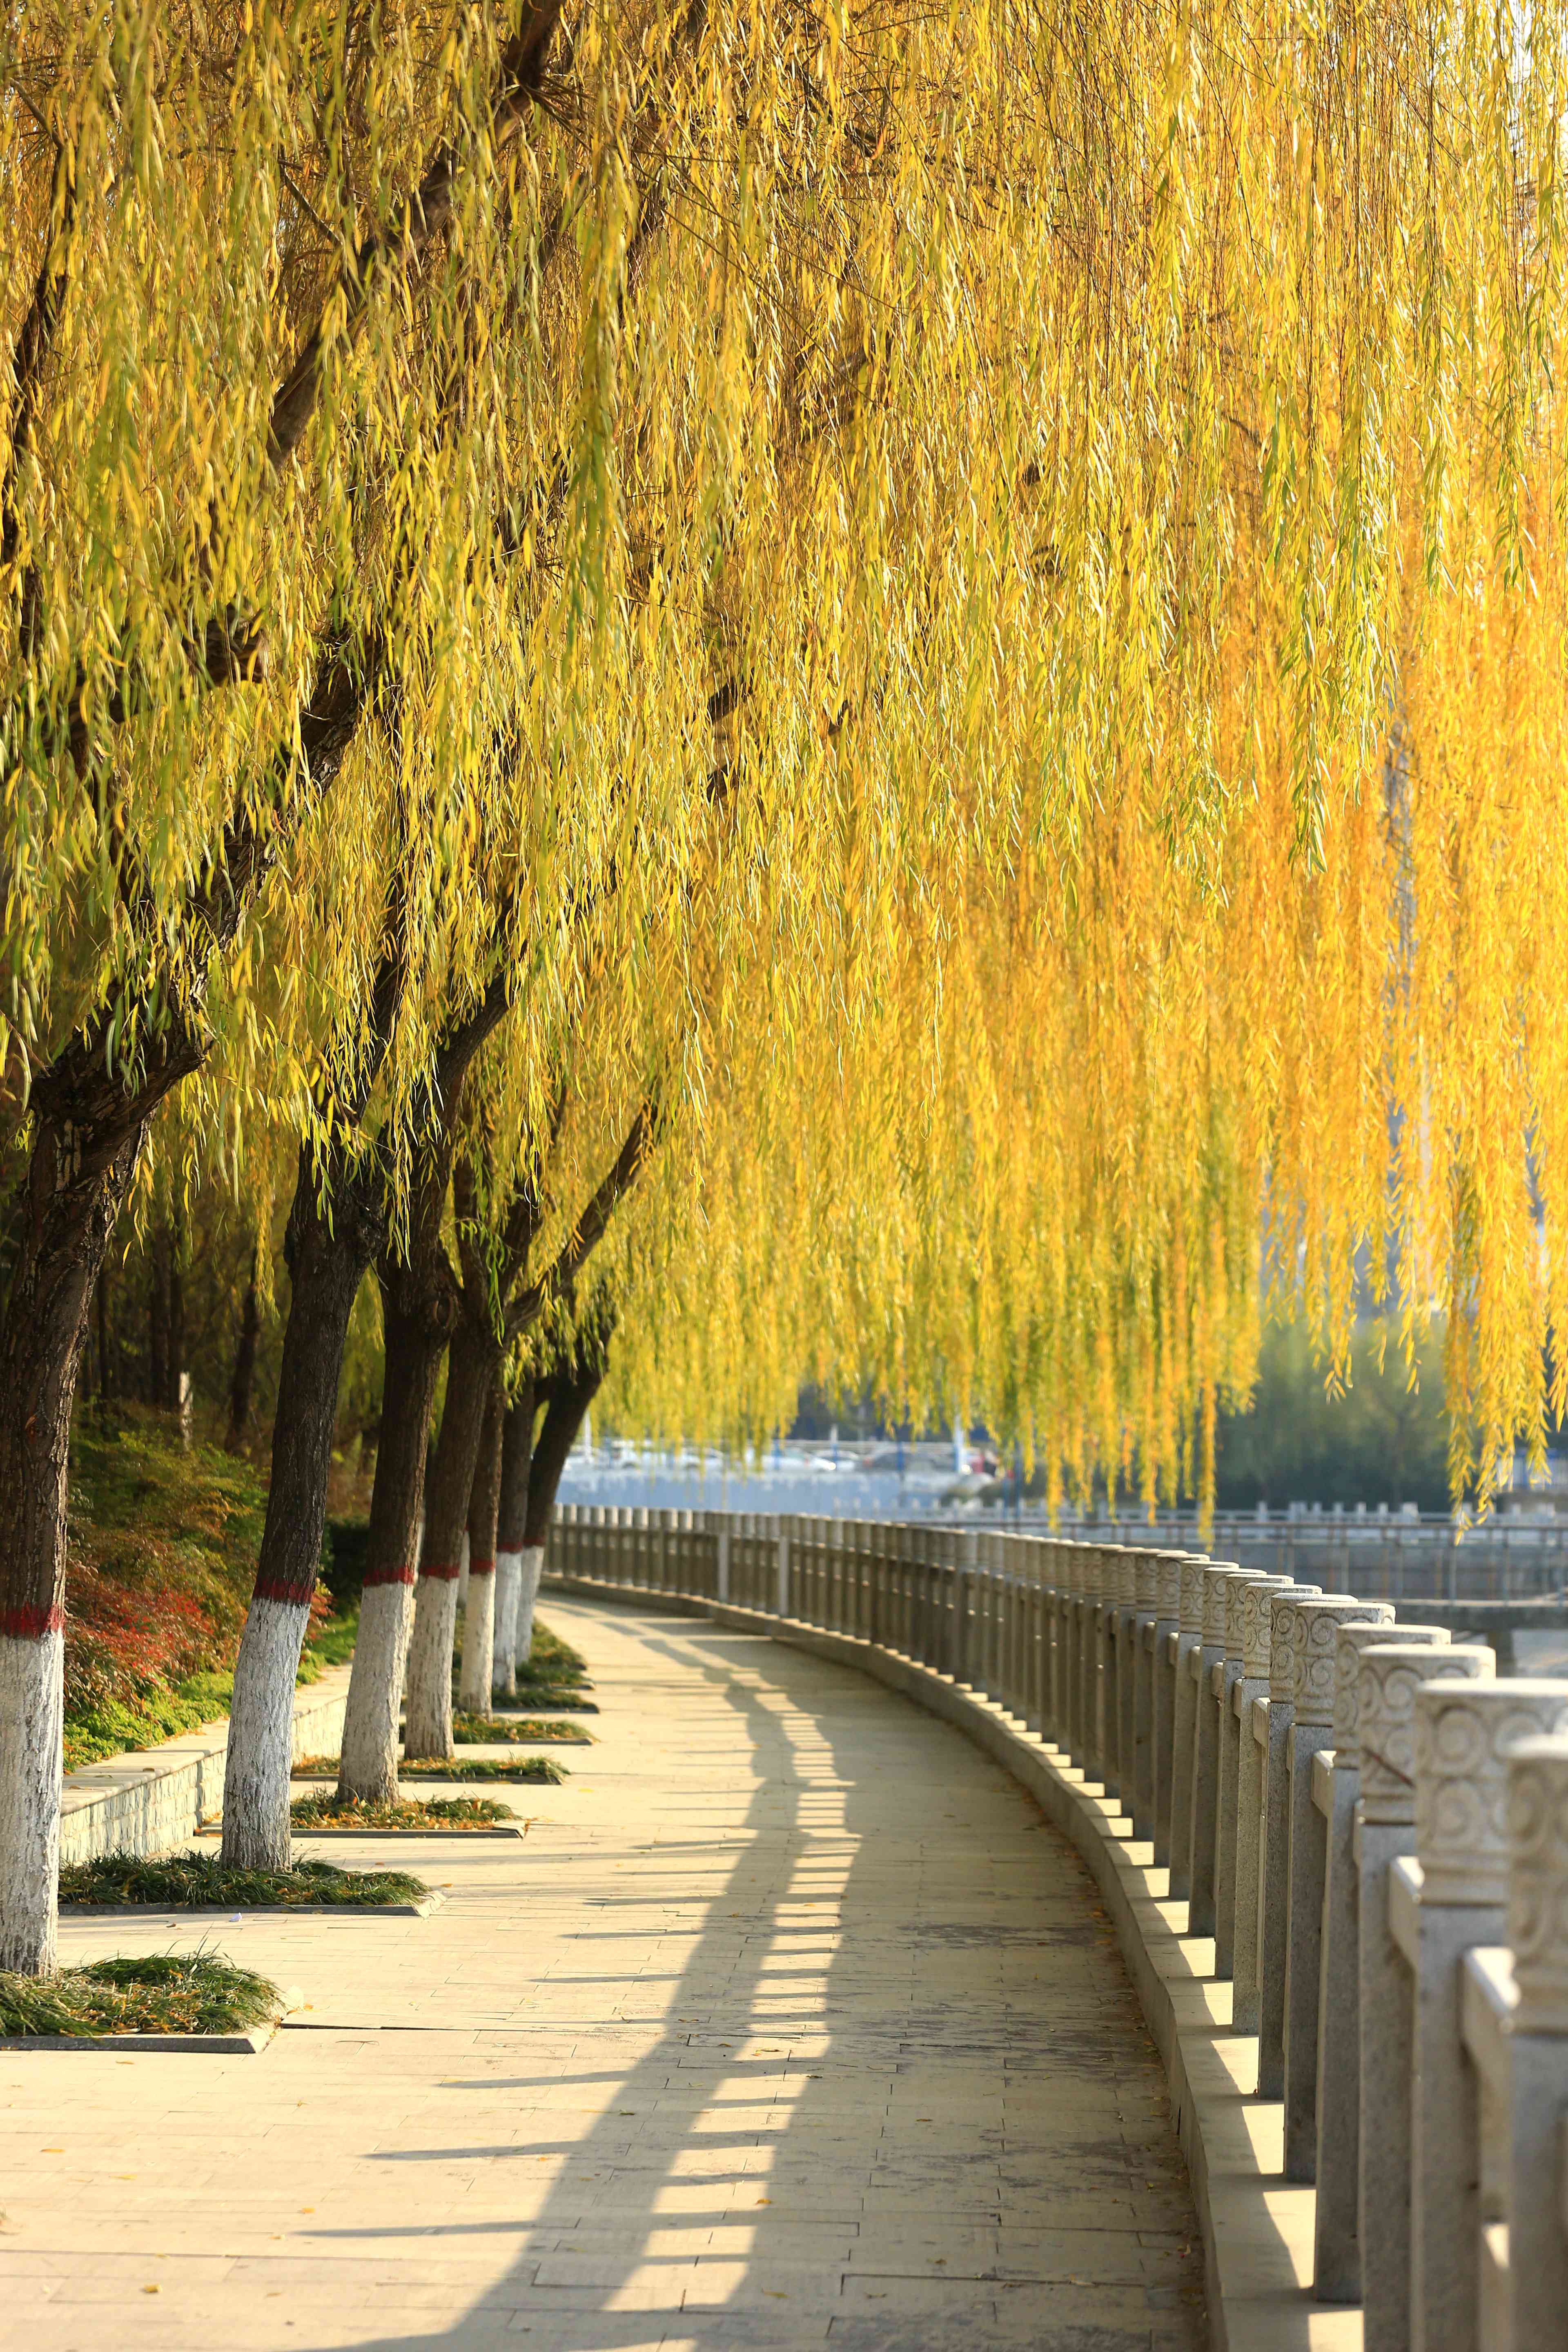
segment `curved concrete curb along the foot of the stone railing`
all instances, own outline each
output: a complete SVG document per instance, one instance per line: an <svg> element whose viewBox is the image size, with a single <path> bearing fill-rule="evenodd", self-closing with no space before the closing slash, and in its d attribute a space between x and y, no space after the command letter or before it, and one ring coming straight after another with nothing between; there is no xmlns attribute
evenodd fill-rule
<svg viewBox="0 0 1568 2352"><path fill-rule="evenodd" d="M1312 2298L1314 2192L1281 2178L1284 2107L1248 2091L1258 2079L1258 2044L1229 2032L1229 1985L1204 1973L1213 1964L1213 1940L1178 1933L1175 1915L1185 1903L1173 1905L1154 1891L1166 1870L1152 1867L1147 1842L1138 1846L1147 1858L1133 1858L1131 1823L1112 1799L1093 1795L1081 1771L1060 1764L1053 1748L992 1700L853 1635L637 1585L550 1573L543 1583L571 1597L766 1632L853 1665L954 1724L1013 1773L1086 1860L1166 2067L1204 2232L1215 2352L1361 2352L1361 2312Z"/></svg>

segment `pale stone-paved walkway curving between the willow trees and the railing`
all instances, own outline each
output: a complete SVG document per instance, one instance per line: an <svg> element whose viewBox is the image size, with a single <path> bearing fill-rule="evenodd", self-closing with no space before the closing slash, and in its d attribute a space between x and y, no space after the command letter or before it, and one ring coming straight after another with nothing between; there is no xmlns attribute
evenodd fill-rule
<svg viewBox="0 0 1568 2352"><path fill-rule="evenodd" d="M548 1616L599 1748L524 1842L404 1842L430 1919L207 1926L313 2004L266 2056L0 2056L0 2345L1197 2352L1159 2060L1032 1802L846 1668Z"/></svg>

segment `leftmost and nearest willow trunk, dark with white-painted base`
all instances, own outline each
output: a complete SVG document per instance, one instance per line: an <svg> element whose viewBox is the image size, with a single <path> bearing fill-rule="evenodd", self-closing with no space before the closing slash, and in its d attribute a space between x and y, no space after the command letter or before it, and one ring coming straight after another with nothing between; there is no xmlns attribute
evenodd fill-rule
<svg viewBox="0 0 1568 2352"><path fill-rule="evenodd" d="M71 1404L143 1127L38 1105L0 1334L0 1969L21 1976L54 1969L59 1919Z"/></svg>

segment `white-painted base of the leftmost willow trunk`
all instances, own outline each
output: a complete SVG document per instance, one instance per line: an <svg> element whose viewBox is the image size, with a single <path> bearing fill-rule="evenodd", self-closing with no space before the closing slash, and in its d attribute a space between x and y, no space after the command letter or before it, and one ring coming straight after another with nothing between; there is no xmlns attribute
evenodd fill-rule
<svg viewBox="0 0 1568 2352"><path fill-rule="evenodd" d="M0 1969L54 1971L66 1637L0 1637Z"/></svg>

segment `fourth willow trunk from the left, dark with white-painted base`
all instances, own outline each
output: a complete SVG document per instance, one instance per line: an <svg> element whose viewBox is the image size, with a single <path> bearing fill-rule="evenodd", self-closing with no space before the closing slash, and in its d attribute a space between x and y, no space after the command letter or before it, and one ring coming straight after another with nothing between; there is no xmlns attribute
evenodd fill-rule
<svg viewBox="0 0 1568 2352"><path fill-rule="evenodd" d="M451 1649L458 1613L458 1559L468 1531L468 1498L480 1458L484 1409L498 1364L496 1341L465 1317L451 1338L447 1409L430 1472L425 1550L414 1588L414 1637L409 1642L409 1700L404 1755L451 1755Z"/></svg>

